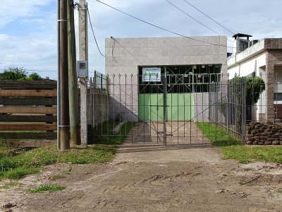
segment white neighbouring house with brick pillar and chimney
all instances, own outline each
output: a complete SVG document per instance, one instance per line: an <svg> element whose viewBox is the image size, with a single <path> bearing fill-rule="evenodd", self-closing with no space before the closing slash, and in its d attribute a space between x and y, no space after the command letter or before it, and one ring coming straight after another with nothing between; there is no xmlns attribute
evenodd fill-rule
<svg viewBox="0 0 282 212"><path fill-rule="evenodd" d="M230 78L237 76L262 76L266 90L253 108L252 119L274 122L282 119L282 38L249 40L251 35L235 37L233 57L228 59ZM242 37L247 37L243 39Z"/></svg>

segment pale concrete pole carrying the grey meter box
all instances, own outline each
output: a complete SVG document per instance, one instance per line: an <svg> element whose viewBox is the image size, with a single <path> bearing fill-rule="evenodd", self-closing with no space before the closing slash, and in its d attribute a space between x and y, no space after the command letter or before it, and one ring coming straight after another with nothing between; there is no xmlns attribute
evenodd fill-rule
<svg viewBox="0 0 282 212"><path fill-rule="evenodd" d="M78 6L79 57L88 61L87 5L85 0ZM81 144L87 145L87 78L80 79L80 133Z"/></svg>

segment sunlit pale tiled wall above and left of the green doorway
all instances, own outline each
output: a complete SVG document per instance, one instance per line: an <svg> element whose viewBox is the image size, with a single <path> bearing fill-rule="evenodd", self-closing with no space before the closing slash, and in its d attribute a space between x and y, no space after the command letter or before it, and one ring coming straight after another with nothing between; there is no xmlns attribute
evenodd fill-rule
<svg viewBox="0 0 282 212"><path fill-rule="evenodd" d="M221 64L222 73L227 74L226 40L224 36L106 38L110 113L116 116L121 112L137 121L138 66Z"/></svg>

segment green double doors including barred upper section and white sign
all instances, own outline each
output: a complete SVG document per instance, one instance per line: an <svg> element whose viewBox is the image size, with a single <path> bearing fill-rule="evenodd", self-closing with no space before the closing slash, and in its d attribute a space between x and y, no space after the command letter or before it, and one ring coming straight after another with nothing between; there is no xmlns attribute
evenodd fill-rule
<svg viewBox="0 0 282 212"><path fill-rule="evenodd" d="M194 114L194 95L191 89L192 75L188 74L190 69L177 70L177 73L170 67L146 71L140 74L142 78L139 81L140 121L191 121ZM157 73L160 76L157 76Z"/></svg>

